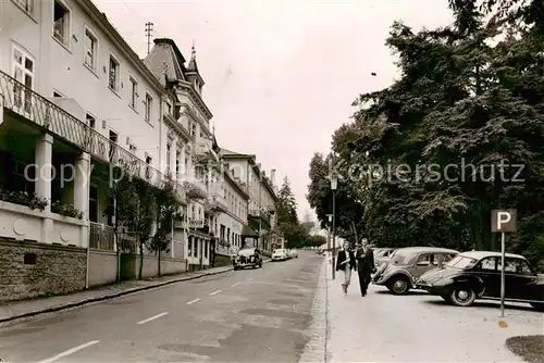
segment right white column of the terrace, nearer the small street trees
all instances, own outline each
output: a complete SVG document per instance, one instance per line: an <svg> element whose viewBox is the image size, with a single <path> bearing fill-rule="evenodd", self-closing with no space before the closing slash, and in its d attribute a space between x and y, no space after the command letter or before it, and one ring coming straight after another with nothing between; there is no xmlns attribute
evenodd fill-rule
<svg viewBox="0 0 544 363"><path fill-rule="evenodd" d="M74 206L83 212L83 221L88 221L89 216L89 189L90 189L90 155L82 152L75 161L74 177ZM79 236L79 247L88 247L89 227L82 226Z"/></svg>

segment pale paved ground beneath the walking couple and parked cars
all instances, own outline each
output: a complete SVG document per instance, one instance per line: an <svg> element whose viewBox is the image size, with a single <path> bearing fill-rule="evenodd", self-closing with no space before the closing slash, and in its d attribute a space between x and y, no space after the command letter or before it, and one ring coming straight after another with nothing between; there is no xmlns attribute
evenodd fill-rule
<svg viewBox="0 0 544 363"><path fill-rule="evenodd" d="M457 308L424 292L398 297L372 285L362 298L357 274L344 298L330 268L327 303L327 362L521 362L505 340L543 333L542 313L524 305L507 306L502 328L496 303Z"/></svg>

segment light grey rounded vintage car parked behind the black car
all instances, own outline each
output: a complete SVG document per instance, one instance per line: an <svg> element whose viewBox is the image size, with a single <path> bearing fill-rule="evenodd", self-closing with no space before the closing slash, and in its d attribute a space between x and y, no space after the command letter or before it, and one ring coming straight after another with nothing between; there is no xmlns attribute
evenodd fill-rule
<svg viewBox="0 0 544 363"><path fill-rule="evenodd" d="M405 295L415 288L416 280L430 270L442 266L459 252L437 247L406 247L395 251L382 271L374 275L374 284L387 287L395 295Z"/></svg>

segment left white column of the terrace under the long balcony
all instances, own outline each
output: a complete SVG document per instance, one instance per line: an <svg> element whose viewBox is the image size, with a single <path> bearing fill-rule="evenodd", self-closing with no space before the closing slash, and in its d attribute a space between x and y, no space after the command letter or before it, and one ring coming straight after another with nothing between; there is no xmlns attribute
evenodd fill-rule
<svg viewBox="0 0 544 363"><path fill-rule="evenodd" d="M36 141L36 195L49 201L45 211L51 211L51 179L52 175L52 157L53 157L53 137L49 134L42 135ZM53 236L53 220L49 213L41 220L41 240L40 242L52 243Z"/></svg>

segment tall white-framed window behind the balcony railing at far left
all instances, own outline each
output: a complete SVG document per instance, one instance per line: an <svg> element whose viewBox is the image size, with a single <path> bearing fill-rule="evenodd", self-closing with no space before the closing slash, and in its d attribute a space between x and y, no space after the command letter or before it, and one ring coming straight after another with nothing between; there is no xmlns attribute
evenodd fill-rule
<svg viewBox="0 0 544 363"><path fill-rule="evenodd" d="M13 78L23 84L13 87L15 108L29 114L32 112L32 89L34 89L34 59L18 48L13 48Z"/></svg>

